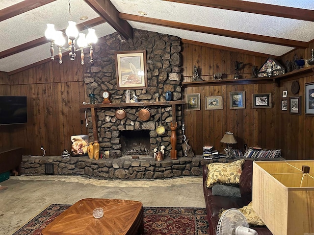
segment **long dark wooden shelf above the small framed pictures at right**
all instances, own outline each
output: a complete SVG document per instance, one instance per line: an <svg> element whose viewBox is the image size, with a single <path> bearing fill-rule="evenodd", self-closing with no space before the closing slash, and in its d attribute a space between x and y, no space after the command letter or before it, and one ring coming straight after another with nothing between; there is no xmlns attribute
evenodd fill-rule
<svg viewBox="0 0 314 235"><path fill-rule="evenodd" d="M197 82L183 82L183 87L198 87L198 86L215 86L215 85L235 85L235 84L259 84L259 83L276 83L280 86L280 81L283 79L296 79L304 76L305 74L314 73L314 65L287 72L282 75L275 77L258 77L258 78L247 78L247 79L223 79L223 80L209 80L209 81L197 81Z"/></svg>

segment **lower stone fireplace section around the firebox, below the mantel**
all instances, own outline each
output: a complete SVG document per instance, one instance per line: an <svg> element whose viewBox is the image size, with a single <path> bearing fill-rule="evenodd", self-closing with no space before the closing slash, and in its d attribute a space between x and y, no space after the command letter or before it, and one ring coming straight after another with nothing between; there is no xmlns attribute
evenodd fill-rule
<svg viewBox="0 0 314 235"><path fill-rule="evenodd" d="M151 118L142 121L138 118L138 112L141 108L126 108L127 117L119 120L115 117L115 109L97 109L97 125L98 140L100 142L101 152L109 151L111 158L118 158L125 155L137 155L127 153L130 149L142 149L147 155L154 156L154 149L160 150L161 146L165 146L165 157L169 156L171 150L170 144L170 122L172 121L172 107L161 108L161 124L166 131L163 135L156 132L157 126L160 124L159 108L150 107ZM89 121L91 123L91 117ZM176 110L176 121L181 127L182 123L182 106L178 106ZM92 126L92 123L91 125ZM92 130L89 131L92 133ZM183 156L181 148L182 129L178 129L177 146L178 157ZM91 139L91 137L90 137ZM143 156L146 156L143 155Z"/></svg>

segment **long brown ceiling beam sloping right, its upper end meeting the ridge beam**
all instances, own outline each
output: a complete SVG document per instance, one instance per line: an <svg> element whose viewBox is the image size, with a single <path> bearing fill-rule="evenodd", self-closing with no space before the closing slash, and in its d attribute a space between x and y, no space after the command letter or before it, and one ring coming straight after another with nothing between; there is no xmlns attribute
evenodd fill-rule
<svg viewBox="0 0 314 235"><path fill-rule="evenodd" d="M211 28L211 27L205 27L205 26L200 26L200 25L195 25L195 24L185 24L185 23L180 23L180 22L166 21L166 20L160 20L156 18L136 16L136 15L130 15L130 14L125 14L125 13L119 13L119 17L127 21L135 21L135 22L146 23L146 24L156 24L156 25L165 26L165 27L178 28L178 29L183 29L183 30L189 30L189 31L200 32L200 33L208 33L208 34L213 34L213 35L219 35L219 36L230 37L230 38L238 38L238 39L255 41L255 42L282 45L286 47L307 48L310 46L309 43L302 42L302 41L289 40L285 38L269 37L269 36L263 36L263 35L258 35L258 34L251 34L251 33L243 33L243 32L224 30L224 29L219 29L219 28Z"/></svg>

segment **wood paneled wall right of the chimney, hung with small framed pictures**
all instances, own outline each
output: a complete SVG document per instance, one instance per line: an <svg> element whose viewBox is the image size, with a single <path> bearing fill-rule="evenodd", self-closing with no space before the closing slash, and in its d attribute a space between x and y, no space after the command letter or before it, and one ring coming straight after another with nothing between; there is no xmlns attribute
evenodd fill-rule
<svg viewBox="0 0 314 235"><path fill-rule="evenodd" d="M312 48L312 47L311 47ZM295 51L299 58L310 58L311 48ZM303 56L301 56L301 55ZM293 54L283 57L291 61ZM251 77L252 65L260 66L266 58L246 55L210 47L183 44L183 80L192 81L193 65L199 68L199 75L203 80L212 80L215 73L226 74L232 79L235 74L235 61L243 61L243 78ZM282 156L287 159L314 159L314 117L304 115L304 83L314 81L314 76L295 78L301 89L302 115L292 115L288 111L281 111L282 92L288 90L292 80L283 80L279 87L274 83L248 85L213 85L187 87L184 94L199 93L201 97L200 111L184 110L185 135L196 154L202 154L204 145L213 145L219 152L223 152L226 144L220 143L224 133L234 133L237 144L234 148L244 150L244 144L260 146L266 149L282 149ZM230 92L245 91L246 108L230 109ZM252 108L253 94L271 93L272 108ZM223 95L222 110L205 110L205 96ZM185 95L184 95L185 96ZM288 99L285 98L285 99Z"/></svg>

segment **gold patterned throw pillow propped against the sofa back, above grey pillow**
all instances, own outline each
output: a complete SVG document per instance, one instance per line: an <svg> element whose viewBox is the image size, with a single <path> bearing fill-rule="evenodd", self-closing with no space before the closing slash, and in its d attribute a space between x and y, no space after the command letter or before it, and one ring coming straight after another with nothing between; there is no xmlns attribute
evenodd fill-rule
<svg viewBox="0 0 314 235"><path fill-rule="evenodd" d="M244 159L232 163L208 164L207 188L216 183L239 184Z"/></svg>

